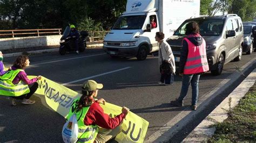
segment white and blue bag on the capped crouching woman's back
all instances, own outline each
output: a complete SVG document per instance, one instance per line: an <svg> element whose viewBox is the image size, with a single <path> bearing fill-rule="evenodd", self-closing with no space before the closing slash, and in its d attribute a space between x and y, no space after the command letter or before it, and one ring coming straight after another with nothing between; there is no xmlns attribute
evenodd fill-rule
<svg viewBox="0 0 256 143"><path fill-rule="evenodd" d="M63 126L62 138L64 142L76 142L78 138L78 124L76 115L73 115Z"/></svg>

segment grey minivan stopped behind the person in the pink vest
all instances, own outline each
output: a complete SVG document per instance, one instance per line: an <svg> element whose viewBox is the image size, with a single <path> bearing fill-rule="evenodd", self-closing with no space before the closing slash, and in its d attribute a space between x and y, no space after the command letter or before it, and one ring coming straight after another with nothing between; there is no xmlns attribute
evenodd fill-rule
<svg viewBox="0 0 256 143"><path fill-rule="evenodd" d="M200 35L206 41L208 65L213 75L220 75L223 66L234 60L240 61L244 32L241 18L237 15L198 17L185 20L166 41L172 48L176 65L179 65L181 41L186 36L185 26L189 22L197 22Z"/></svg>

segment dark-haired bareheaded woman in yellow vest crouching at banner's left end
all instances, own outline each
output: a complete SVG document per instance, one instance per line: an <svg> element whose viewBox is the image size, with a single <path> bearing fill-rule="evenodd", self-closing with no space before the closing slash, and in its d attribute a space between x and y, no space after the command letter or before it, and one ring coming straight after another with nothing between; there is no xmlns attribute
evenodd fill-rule
<svg viewBox="0 0 256 143"><path fill-rule="evenodd" d="M29 58L26 55L20 55L8 71L1 77L0 84L2 88L0 95L10 96L11 105L17 105L16 99L22 99L22 104L33 104L35 101L31 101L29 98L36 92L38 88L38 80L41 80L41 76L37 76L29 80L24 69L29 66ZM6 90L5 90L6 89Z"/></svg>

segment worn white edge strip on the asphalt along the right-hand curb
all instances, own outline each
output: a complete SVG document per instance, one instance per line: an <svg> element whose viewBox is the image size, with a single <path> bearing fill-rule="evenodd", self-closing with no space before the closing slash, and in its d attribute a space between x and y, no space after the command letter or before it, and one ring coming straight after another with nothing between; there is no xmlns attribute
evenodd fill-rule
<svg viewBox="0 0 256 143"><path fill-rule="evenodd" d="M241 73L248 73L250 69L255 66L256 58L253 58L240 68ZM206 106L216 96L220 95L226 89L230 87L235 81L239 80L240 77L244 76L240 72L235 72L228 76L225 80L221 81L211 91L199 98L198 109L191 111L190 107L181 111L176 117L171 119L164 126L160 127L159 130L153 133L150 137L145 139L145 142L170 142L174 134L178 133L182 128L186 126L189 121L196 118L200 112L204 111ZM204 102L202 102L204 101Z"/></svg>

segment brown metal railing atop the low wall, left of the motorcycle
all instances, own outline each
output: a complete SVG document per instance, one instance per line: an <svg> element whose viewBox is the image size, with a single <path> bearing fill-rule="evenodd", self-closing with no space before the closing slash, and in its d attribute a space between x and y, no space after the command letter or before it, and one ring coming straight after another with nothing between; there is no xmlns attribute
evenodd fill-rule
<svg viewBox="0 0 256 143"><path fill-rule="evenodd" d="M37 34L39 37L40 34L53 34L58 33L58 35L61 34L61 28L53 28L53 29L28 29L28 30L0 30L0 36L9 36L11 35L12 38L15 37L15 35L31 35L31 34ZM43 31L43 32L41 32ZM8 33L10 32L10 33Z"/></svg>

